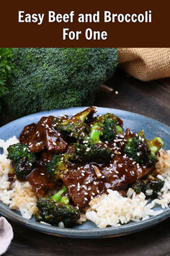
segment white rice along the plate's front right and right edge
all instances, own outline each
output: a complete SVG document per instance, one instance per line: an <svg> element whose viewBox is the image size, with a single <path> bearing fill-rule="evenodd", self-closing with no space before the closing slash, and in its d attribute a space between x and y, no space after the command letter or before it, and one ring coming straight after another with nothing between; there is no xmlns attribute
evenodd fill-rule
<svg viewBox="0 0 170 256"><path fill-rule="evenodd" d="M107 226L117 226L119 223L146 220L149 216L162 213L163 210L153 210L153 208L158 204L164 209L170 203L170 150L160 151L156 171L158 178L165 182L157 199L146 200L143 192L136 195L131 188L128 189L127 197L122 197L117 191L108 189L108 195L96 197L89 202L90 208L86 212L86 218L102 229ZM151 191L147 192L148 195L151 194Z"/></svg>

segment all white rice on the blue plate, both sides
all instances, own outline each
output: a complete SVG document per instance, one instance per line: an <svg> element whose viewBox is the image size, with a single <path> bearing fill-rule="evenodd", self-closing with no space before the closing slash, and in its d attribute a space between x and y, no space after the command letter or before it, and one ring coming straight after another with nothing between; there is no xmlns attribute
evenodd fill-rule
<svg viewBox="0 0 170 256"><path fill-rule="evenodd" d="M19 210L24 218L31 218L36 213L37 198L29 182L19 182L17 179L13 184L8 180L8 174L12 170L11 161L6 158L6 148L19 142L12 137L6 142L0 140L0 148L4 153L0 155L0 200L9 208ZM161 208L167 208L170 203L170 150L160 150L158 163L156 163L158 178L164 180L164 187L158 192L158 198L153 201L146 200L141 192L136 195L133 189L128 189L127 197L122 197L117 191L108 189L108 195L96 197L89 202L86 216L81 215L78 223L86 221L86 218L97 224L99 228L107 226L119 226L129 221L140 221L156 216L163 210L153 210L156 204ZM151 195L151 189L148 189ZM63 227L63 223L59 225Z"/></svg>

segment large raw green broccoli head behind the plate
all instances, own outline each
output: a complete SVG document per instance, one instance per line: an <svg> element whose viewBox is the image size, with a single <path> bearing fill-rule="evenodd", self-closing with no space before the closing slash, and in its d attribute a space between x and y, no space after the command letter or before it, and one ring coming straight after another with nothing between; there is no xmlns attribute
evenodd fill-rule
<svg viewBox="0 0 170 256"><path fill-rule="evenodd" d="M116 48L12 48L12 80L3 98L13 116L91 106L99 85L112 77Z"/></svg>

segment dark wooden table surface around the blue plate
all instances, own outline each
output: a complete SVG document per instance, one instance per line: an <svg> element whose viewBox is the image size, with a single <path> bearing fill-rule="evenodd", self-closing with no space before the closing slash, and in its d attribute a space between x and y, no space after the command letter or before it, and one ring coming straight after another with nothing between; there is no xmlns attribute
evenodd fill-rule
<svg viewBox="0 0 170 256"><path fill-rule="evenodd" d="M170 79L140 82L117 70L108 88L100 88L95 106L120 108L170 126ZM4 116L1 125L10 121ZM14 239L6 256L18 255L170 255L170 219L151 229L109 239L67 239L40 234L12 221Z"/></svg>

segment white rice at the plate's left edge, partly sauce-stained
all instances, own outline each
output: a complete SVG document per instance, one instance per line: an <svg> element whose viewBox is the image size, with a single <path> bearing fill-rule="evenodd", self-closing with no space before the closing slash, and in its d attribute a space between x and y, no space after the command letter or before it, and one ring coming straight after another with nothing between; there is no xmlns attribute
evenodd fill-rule
<svg viewBox="0 0 170 256"><path fill-rule="evenodd" d="M12 170L11 161L6 158L6 148L18 143L14 136L4 142L0 140L0 148L4 153L0 155L0 200L10 209L19 210L24 218L31 218L37 210L37 198L29 182L19 182L17 179L13 184L8 181L8 174Z"/></svg>

